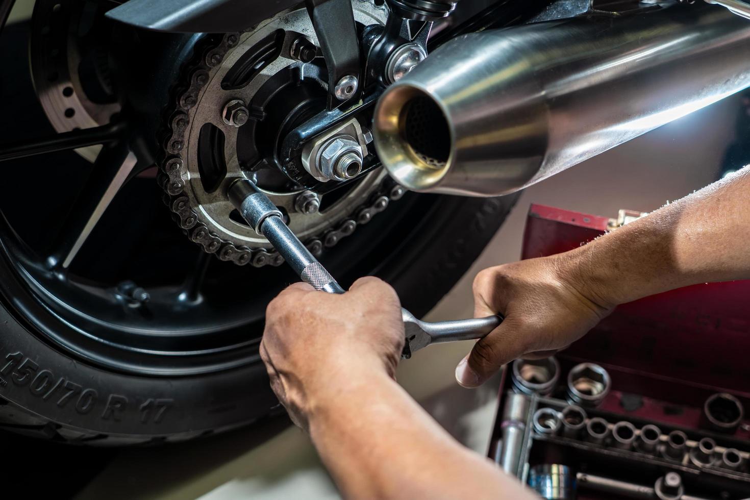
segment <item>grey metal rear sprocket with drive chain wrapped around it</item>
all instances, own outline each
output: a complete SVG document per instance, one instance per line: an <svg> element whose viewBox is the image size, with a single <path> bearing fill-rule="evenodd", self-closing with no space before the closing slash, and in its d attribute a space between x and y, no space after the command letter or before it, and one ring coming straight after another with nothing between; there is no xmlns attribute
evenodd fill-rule
<svg viewBox="0 0 750 500"><path fill-rule="evenodd" d="M363 25L383 24L388 11L355 0ZM289 106L301 119L323 109L326 89L320 66L290 58L292 40L317 44L305 8L288 10L243 33L207 35L184 65L183 85L175 90L163 139L160 184L175 220L208 253L239 265L281 265L283 259L251 229L226 199L236 178L254 175L257 184L287 215L287 222L312 253L320 255L385 210L403 189L382 169L320 199L321 210L298 211L302 187L278 169L263 168L263 150L275 147L289 130L280 112ZM320 94L320 95L319 95ZM320 100L319 99L323 99ZM249 120L235 127L223 116L228 103L247 106ZM281 117L275 115L280 114Z"/></svg>

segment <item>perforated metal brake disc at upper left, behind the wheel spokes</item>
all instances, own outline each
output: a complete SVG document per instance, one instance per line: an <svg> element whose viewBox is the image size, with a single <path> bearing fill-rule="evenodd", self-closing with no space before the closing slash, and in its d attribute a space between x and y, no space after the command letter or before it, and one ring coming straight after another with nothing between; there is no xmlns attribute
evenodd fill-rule
<svg viewBox="0 0 750 500"><path fill-rule="evenodd" d="M37 0L31 16L31 76L59 133L110 123L120 111L107 63L106 12L114 4ZM94 161L100 145L77 149Z"/></svg>

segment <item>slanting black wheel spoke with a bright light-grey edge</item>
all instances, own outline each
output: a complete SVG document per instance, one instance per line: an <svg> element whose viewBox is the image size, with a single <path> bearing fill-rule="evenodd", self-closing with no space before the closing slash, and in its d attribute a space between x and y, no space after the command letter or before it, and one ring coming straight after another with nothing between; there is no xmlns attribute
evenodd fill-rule
<svg viewBox="0 0 750 500"><path fill-rule="evenodd" d="M130 178L136 157L123 143L105 146L94 163L92 175L74 202L58 232L47 262L52 268L68 268L120 188Z"/></svg>

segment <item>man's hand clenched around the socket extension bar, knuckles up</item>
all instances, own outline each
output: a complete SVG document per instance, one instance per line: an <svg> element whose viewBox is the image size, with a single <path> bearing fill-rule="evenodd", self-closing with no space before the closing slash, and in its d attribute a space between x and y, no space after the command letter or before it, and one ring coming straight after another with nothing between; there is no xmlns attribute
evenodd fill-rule
<svg viewBox="0 0 750 500"><path fill-rule="evenodd" d="M393 377L403 348L398 295L365 277L344 295L307 283L281 292L266 310L260 357L292 420L307 429L311 413L329 398L346 397L371 376Z"/></svg>

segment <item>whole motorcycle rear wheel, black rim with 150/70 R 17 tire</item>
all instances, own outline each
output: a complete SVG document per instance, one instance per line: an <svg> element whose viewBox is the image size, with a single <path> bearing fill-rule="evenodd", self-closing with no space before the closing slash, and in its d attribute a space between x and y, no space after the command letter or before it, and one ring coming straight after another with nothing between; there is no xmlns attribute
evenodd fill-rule
<svg viewBox="0 0 750 500"><path fill-rule="evenodd" d="M0 56L8 64L25 57L24 32L13 25L2 33ZM9 103L0 120L3 143L55 133L30 76L4 71L0 95ZM169 220L154 180L133 178L70 273L50 273L46 235L65 223L91 165L62 151L1 166L0 429L75 444L140 445L223 432L281 410L257 344L265 305L296 281L287 268L207 260ZM407 193L323 263L344 286L382 277L420 316L469 268L515 200ZM154 300L129 309L111 300L123 280L148 282L145 289L157 296L180 286L184 274L201 272L212 292L189 307L176 300L157 307L164 304ZM214 317L236 321L229 328L229 320ZM195 333L193 323L200 335L182 343Z"/></svg>

